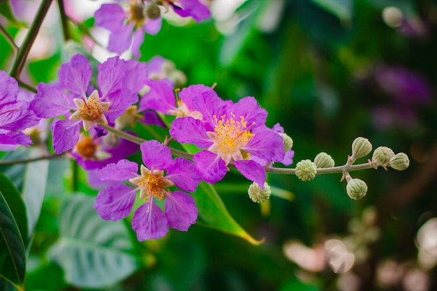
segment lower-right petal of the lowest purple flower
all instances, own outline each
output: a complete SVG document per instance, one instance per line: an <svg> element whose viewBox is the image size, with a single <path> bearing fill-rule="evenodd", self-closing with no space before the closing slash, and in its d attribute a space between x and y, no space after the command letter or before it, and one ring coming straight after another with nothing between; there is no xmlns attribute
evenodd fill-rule
<svg viewBox="0 0 437 291"><path fill-rule="evenodd" d="M187 193L175 191L165 195L165 217L170 227L186 232L198 219L198 207Z"/></svg>

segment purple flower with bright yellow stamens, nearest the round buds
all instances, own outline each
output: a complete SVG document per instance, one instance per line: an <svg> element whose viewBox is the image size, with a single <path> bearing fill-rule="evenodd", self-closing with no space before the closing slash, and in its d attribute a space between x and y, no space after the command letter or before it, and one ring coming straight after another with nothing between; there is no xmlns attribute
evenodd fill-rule
<svg viewBox="0 0 437 291"><path fill-rule="evenodd" d="M192 104L202 114L203 122L193 117L177 118L171 124L170 135L179 142L207 149L193 157L202 179L209 183L220 181L228 172L226 166L233 162L244 177L264 185L265 168L251 161L251 156L266 163L282 161L283 139L265 127L267 112L255 98L232 103L209 89L194 96Z"/></svg>

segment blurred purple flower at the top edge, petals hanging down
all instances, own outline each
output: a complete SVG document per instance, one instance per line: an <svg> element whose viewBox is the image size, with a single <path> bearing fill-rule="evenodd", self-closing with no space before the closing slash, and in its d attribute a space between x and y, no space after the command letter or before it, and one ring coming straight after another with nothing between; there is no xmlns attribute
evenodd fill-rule
<svg viewBox="0 0 437 291"><path fill-rule="evenodd" d="M147 6L141 0L127 2L126 11L119 4L103 4L94 14L95 24L111 32L108 50L121 54L132 47L133 57L138 59L145 33L158 33L162 19L147 17Z"/></svg>

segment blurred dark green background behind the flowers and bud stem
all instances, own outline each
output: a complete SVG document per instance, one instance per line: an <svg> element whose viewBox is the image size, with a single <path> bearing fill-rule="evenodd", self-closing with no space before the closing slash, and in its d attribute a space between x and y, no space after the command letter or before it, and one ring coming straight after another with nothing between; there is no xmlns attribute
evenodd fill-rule
<svg viewBox="0 0 437 291"><path fill-rule="evenodd" d="M102 1L65 2L81 44L64 44L53 7L22 73L29 84L56 80L60 64L82 44L80 50L100 61L110 55L87 36L108 41L105 31L92 25ZM12 22L8 1L0 4L0 23L22 39L35 9ZM117 283L93 286L72 281L66 276L71 270L50 259L56 257L50 253L56 253L52 245L62 223L69 223L59 216L72 196L65 189L74 168L68 160L51 162L27 289L436 290L437 1L212 0L209 5L213 17L201 24L168 15L156 36L146 36L140 60L161 55L172 61L186 75L182 87L216 83L223 99L255 96L269 112L267 125L280 123L294 140L295 163L325 151L343 165L355 137L363 136L373 148L405 152L410 167L352 172L369 186L358 201L346 195L341 174L307 182L269 174L270 186L291 194L288 200L272 196L262 207L249 200L250 183L231 172L216 190L235 221L255 239L265 238L263 244L253 246L202 223L140 243L123 222L117 227L128 225L125 239L141 264ZM14 52L1 35L0 51L0 68L8 71ZM10 168L3 171L14 177ZM86 195L96 194L83 177L77 183Z"/></svg>

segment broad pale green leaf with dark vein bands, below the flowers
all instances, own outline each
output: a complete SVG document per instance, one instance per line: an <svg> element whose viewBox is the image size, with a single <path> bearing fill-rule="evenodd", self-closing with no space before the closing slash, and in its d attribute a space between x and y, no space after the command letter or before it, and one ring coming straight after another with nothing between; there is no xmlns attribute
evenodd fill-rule
<svg viewBox="0 0 437 291"><path fill-rule="evenodd" d="M103 288L138 269L122 221L104 221L93 208L94 197L74 195L61 207L60 239L49 250L66 281L83 288Z"/></svg>

